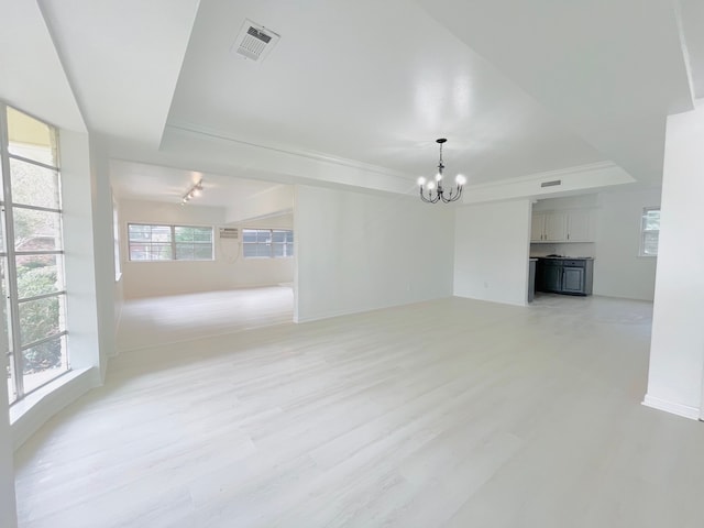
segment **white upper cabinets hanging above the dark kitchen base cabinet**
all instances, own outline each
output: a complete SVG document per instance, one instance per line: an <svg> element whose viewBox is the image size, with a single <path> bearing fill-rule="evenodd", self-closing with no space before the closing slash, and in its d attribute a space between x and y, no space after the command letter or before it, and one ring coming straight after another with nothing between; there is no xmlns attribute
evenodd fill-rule
<svg viewBox="0 0 704 528"><path fill-rule="evenodd" d="M531 242L593 242L592 212L587 209L535 212Z"/></svg>

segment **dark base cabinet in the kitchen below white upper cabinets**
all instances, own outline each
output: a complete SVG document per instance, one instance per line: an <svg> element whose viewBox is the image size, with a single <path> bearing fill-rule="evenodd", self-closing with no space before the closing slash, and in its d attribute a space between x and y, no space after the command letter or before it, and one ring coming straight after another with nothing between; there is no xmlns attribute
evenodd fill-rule
<svg viewBox="0 0 704 528"><path fill-rule="evenodd" d="M592 295L592 258L538 258L536 290L566 295Z"/></svg>

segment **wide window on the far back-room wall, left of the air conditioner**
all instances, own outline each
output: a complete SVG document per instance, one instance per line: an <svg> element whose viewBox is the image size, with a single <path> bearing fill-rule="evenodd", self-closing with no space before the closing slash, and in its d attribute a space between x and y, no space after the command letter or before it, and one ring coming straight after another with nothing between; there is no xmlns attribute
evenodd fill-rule
<svg viewBox="0 0 704 528"><path fill-rule="evenodd" d="M212 228L128 226L130 261L212 261Z"/></svg>

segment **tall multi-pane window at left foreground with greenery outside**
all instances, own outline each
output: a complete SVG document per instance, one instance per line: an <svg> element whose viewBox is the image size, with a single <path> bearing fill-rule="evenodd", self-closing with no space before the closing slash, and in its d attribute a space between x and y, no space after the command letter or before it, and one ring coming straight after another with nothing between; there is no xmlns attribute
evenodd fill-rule
<svg viewBox="0 0 704 528"><path fill-rule="evenodd" d="M69 369L58 133L0 103L2 237L10 402Z"/></svg>

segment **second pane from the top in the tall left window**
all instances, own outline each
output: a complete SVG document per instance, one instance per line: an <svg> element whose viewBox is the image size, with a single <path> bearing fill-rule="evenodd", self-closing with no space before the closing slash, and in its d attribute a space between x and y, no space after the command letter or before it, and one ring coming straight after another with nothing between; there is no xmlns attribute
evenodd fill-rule
<svg viewBox="0 0 704 528"><path fill-rule="evenodd" d="M58 209L58 173L19 160L10 160L12 201Z"/></svg>

